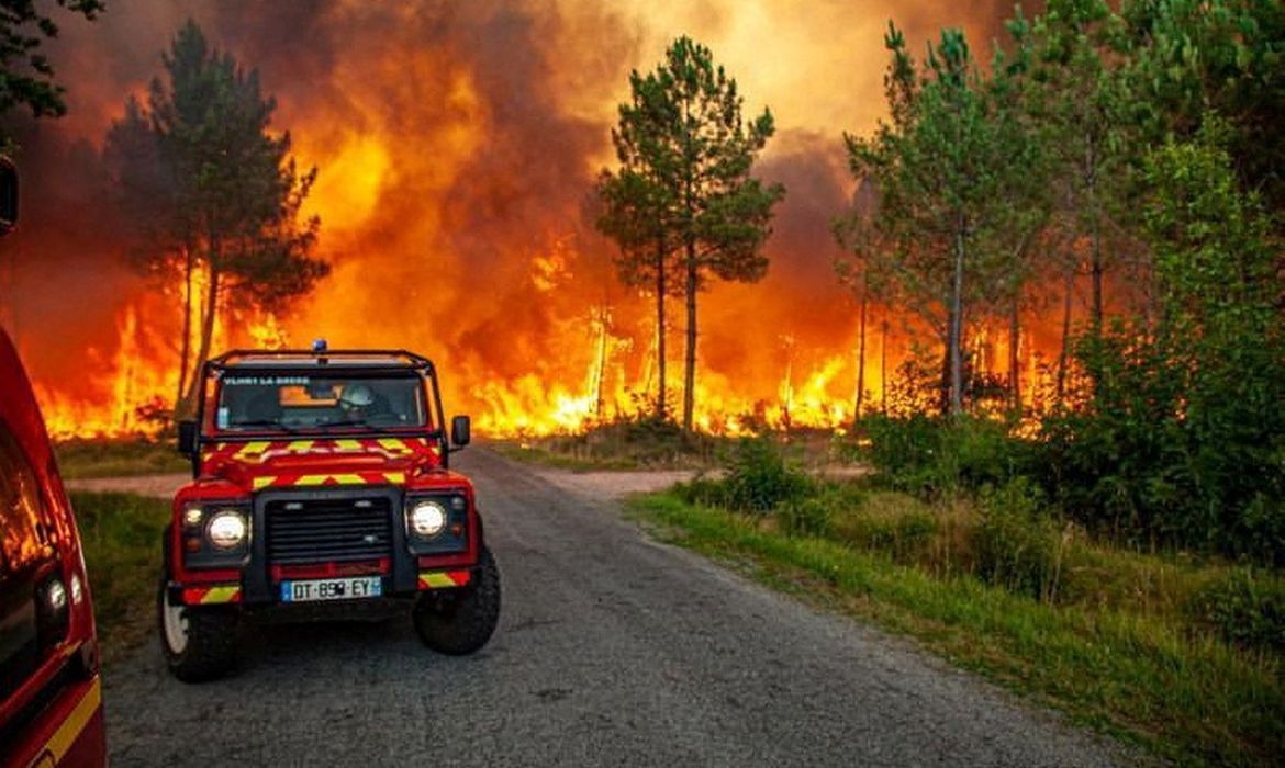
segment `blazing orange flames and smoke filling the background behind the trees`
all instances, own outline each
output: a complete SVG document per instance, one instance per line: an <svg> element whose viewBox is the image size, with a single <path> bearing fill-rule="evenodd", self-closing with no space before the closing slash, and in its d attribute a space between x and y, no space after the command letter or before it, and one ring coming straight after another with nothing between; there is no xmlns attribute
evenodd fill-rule
<svg viewBox="0 0 1285 768"><path fill-rule="evenodd" d="M490 434L573 432L645 410L657 385L653 302L616 281L614 245L594 232L585 203L613 159L628 71L654 67L689 33L739 80L747 108L774 109L779 132L757 172L788 188L768 276L700 297L696 423L716 433L842 424L855 399L857 311L831 266L830 223L852 193L840 132L870 130L883 112L889 18L917 40L943 24L984 36L1009 8L813 10L188 1L69 19L50 55L71 114L19 128L24 218L0 245L0 319L51 432L154 433L150 416L177 393L181 286L128 268L120 227L103 221L95 163L108 125L161 74L159 54L188 17L260 68L279 101L274 126L320 168L308 212L323 220L319 253L334 266L297 306L225 316L216 351L314 338L414 349L437 361L447 410ZM681 397L681 302L669 307L668 387ZM870 319L870 403L910 348L905 329L900 313ZM1058 343L1034 339L1023 365L1034 371L1033 351ZM991 357L1006 366L1001 347Z"/></svg>

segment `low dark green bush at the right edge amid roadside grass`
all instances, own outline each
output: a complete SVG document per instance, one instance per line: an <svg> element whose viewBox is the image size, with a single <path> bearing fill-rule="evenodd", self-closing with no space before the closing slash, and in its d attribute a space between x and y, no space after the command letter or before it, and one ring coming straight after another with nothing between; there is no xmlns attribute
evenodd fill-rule
<svg viewBox="0 0 1285 768"><path fill-rule="evenodd" d="M1280 574L1236 568L1209 583L1191 607L1198 622L1228 642L1285 654L1285 579Z"/></svg>

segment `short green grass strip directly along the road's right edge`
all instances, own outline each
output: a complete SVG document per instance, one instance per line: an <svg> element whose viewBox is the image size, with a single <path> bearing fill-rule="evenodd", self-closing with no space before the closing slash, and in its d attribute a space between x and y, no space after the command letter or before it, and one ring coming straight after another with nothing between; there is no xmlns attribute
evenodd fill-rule
<svg viewBox="0 0 1285 768"><path fill-rule="evenodd" d="M1285 669L1164 618L1054 606L971 577L934 578L834 541L788 537L672 492L630 506L707 556L750 560L777 588L910 634L964 668L1180 764L1285 754Z"/></svg>

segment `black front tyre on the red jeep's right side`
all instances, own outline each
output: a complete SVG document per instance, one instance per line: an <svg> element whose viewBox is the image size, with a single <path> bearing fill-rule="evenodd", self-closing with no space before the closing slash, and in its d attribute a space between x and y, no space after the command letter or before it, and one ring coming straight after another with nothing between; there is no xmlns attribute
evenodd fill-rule
<svg viewBox="0 0 1285 768"><path fill-rule="evenodd" d="M421 595L411 619L424 645L439 654L463 656L484 646L500 623L500 569L491 550L482 547L468 587Z"/></svg>

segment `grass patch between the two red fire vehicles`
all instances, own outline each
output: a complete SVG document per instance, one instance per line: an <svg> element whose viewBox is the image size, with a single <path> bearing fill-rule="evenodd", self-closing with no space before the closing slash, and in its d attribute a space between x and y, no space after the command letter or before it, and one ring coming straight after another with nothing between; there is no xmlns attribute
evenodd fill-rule
<svg viewBox="0 0 1285 768"><path fill-rule="evenodd" d="M146 640L155 620L161 534L170 505L132 493L71 493L89 570L103 656Z"/></svg>

